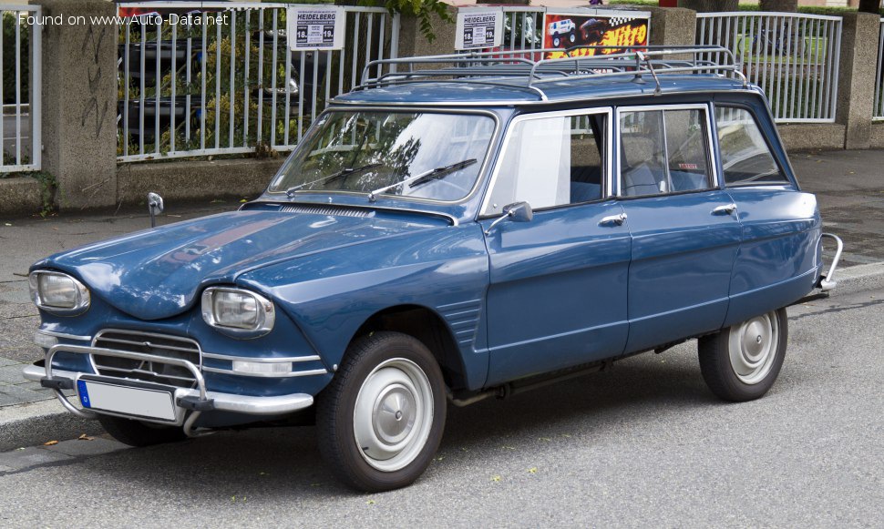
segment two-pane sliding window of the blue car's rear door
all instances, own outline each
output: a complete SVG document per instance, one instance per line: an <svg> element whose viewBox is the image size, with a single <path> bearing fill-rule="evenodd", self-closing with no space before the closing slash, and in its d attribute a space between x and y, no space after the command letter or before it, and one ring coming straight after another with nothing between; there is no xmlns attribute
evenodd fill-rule
<svg viewBox="0 0 884 529"><path fill-rule="evenodd" d="M623 196L712 188L703 108L622 112L620 134Z"/></svg>

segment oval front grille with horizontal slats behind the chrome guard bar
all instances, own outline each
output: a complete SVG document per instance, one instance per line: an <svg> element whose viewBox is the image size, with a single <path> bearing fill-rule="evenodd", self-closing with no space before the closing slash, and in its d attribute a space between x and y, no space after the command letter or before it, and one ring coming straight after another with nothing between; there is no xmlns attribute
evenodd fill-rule
<svg viewBox="0 0 884 529"><path fill-rule="evenodd" d="M190 361L201 367L200 345L188 338L138 331L100 331L93 347L128 351ZM196 387L197 381L186 368L161 361L130 360L103 354L92 354L92 363L100 375L158 382L179 388Z"/></svg>

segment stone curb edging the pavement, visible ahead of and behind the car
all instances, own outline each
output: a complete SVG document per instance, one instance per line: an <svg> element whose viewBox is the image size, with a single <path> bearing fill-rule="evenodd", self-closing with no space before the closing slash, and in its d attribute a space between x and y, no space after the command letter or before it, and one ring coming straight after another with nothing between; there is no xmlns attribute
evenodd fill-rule
<svg viewBox="0 0 884 529"><path fill-rule="evenodd" d="M838 270L835 279L838 287L829 293L831 297L884 288L884 262ZM98 421L65 411L57 399L0 408L0 452L103 432Z"/></svg>

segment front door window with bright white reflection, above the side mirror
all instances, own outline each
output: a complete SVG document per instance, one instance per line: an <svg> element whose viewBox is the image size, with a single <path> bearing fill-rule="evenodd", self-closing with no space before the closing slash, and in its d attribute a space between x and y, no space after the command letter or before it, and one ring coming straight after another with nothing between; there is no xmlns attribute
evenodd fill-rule
<svg viewBox="0 0 884 529"><path fill-rule="evenodd" d="M606 178L607 115L540 117L509 133L483 215L525 201L533 209L598 200Z"/></svg>

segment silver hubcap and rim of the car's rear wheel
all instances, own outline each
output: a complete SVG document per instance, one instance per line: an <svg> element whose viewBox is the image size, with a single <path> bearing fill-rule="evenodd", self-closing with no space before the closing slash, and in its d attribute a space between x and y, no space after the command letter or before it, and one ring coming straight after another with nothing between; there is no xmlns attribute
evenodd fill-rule
<svg viewBox="0 0 884 529"><path fill-rule="evenodd" d="M728 351L736 377L746 384L764 380L774 365L778 343L779 323L775 312L731 327Z"/></svg>

